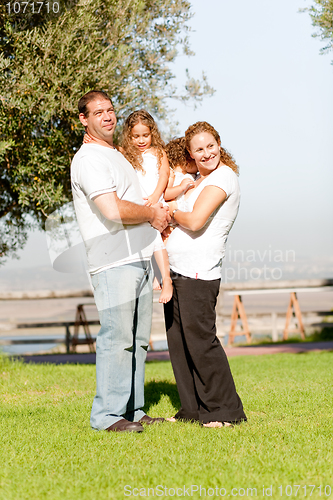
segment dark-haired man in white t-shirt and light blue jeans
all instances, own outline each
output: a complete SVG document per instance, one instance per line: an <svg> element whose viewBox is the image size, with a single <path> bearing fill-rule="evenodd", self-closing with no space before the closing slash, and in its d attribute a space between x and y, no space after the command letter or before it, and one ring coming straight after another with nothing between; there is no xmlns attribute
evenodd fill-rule
<svg viewBox="0 0 333 500"><path fill-rule="evenodd" d="M72 191L101 323L90 422L98 430L141 432L142 423L164 420L140 408L152 317L151 255L170 217L162 204L143 205L133 167L114 148L110 97L90 91L79 112L92 141L73 158Z"/></svg>

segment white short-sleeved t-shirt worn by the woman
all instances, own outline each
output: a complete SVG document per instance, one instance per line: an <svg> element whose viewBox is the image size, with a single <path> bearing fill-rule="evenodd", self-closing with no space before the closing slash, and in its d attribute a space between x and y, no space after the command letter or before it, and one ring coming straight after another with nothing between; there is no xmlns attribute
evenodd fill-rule
<svg viewBox="0 0 333 500"><path fill-rule="evenodd" d="M178 226L171 233L166 249L170 267L189 278L214 280L221 278L222 260L228 234L236 219L240 201L238 178L230 167L222 165L209 174L179 209L192 212L200 193L206 186L217 186L225 191L226 200L212 213L199 231Z"/></svg>

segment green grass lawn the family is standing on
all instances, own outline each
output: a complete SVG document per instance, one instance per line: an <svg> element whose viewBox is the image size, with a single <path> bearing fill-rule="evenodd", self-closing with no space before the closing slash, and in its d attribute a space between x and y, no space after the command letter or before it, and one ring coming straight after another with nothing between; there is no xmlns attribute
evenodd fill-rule
<svg viewBox="0 0 333 500"><path fill-rule="evenodd" d="M142 434L90 429L95 366L0 360L1 500L333 499L332 352L232 358L247 423ZM147 413L178 406L170 363L148 363Z"/></svg>

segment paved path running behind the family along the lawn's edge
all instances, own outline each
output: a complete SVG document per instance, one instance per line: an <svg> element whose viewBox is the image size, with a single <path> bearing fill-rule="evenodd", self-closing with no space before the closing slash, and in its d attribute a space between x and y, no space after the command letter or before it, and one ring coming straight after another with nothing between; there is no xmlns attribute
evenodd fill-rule
<svg viewBox="0 0 333 500"><path fill-rule="evenodd" d="M232 356L258 356L263 354L292 353L311 351L333 351L333 341L328 342L304 342L299 344L278 344L265 346L244 346L244 347L225 347L228 358ZM56 365L72 364L95 364L96 354L40 354L20 356L26 363L53 363ZM148 361L168 361L170 359L168 351L149 351Z"/></svg>

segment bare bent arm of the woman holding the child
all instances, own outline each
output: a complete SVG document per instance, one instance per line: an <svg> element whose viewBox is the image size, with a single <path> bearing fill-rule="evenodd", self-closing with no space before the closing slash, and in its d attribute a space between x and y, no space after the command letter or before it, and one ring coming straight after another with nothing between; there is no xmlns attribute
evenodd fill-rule
<svg viewBox="0 0 333 500"><path fill-rule="evenodd" d="M173 218L185 229L191 231L199 231L206 224L209 216L219 207L227 198L227 194L223 189L217 186L206 186L199 194L198 199L194 203L192 212L182 212L177 210ZM169 203L170 215L177 208L177 202Z"/></svg>

